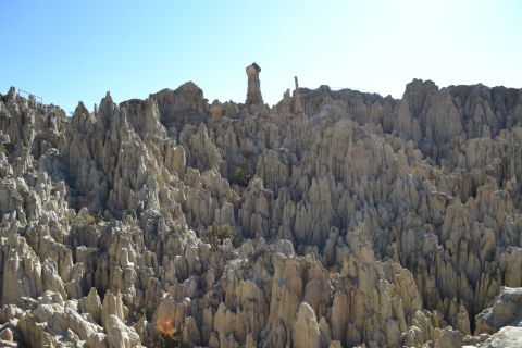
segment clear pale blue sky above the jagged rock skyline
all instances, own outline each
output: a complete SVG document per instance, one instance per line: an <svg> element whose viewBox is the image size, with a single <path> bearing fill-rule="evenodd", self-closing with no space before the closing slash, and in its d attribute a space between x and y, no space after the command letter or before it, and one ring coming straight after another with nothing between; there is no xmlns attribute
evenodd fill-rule
<svg viewBox="0 0 522 348"><path fill-rule="evenodd" d="M400 98L413 78L439 87L522 87L522 1L0 0L0 92L89 110L187 80L209 102L244 102L245 67L265 102L294 76Z"/></svg>

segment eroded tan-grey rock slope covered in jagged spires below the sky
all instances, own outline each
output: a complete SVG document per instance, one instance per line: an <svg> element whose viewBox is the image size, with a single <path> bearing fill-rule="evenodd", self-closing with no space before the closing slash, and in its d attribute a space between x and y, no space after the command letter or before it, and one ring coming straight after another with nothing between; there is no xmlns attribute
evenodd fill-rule
<svg viewBox="0 0 522 348"><path fill-rule="evenodd" d="M520 346L522 90L269 109L256 66L246 104L0 95L0 347Z"/></svg>

